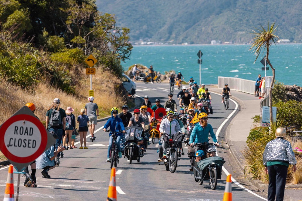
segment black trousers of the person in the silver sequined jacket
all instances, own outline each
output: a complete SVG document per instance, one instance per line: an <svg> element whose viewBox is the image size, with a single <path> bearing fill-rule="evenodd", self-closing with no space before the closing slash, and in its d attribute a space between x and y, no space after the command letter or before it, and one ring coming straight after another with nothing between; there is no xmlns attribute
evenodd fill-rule
<svg viewBox="0 0 302 201"><path fill-rule="evenodd" d="M268 166L268 201L282 201L287 177L288 167L285 165Z"/></svg>

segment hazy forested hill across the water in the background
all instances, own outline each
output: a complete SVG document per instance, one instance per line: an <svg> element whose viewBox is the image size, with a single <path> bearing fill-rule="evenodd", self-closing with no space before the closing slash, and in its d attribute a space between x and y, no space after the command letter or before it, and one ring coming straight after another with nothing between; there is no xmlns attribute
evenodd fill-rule
<svg viewBox="0 0 302 201"><path fill-rule="evenodd" d="M131 41L190 44L246 43L253 27L274 22L280 39L301 42L301 0L97 0L98 10L114 13L117 26L130 28Z"/></svg>

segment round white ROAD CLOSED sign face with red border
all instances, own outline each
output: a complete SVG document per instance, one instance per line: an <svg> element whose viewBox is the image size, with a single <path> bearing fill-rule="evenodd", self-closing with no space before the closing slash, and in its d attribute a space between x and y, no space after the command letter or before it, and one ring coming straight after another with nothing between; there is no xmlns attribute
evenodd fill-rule
<svg viewBox="0 0 302 201"><path fill-rule="evenodd" d="M31 115L15 115L0 128L0 149L7 159L27 163L37 159L47 145L47 131Z"/></svg>

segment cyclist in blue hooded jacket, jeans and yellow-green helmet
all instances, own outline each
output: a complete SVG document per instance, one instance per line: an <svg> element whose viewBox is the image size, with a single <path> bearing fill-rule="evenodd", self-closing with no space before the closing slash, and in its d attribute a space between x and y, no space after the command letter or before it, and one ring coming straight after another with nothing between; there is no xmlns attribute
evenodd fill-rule
<svg viewBox="0 0 302 201"><path fill-rule="evenodd" d="M123 124L123 121L121 118L117 117L117 113L118 113L118 108L111 108L111 118L108 119L108 121L106 122L106 124L104 125L104 131L107 130L108 127L110 127L111 131L114 132L118 132L115 134L116 136L116 140L115 140L115 144L117 146L117 151L118 151L118 157L122 158L122 152L120 149L120 140L123 137L123 133L125 133L125 127ZM120 133L119 131L122 130L122 133ZM112 137L112 133L109 133L109 146L108 146L108 153L107 153L107 162L110 162L110 150L112 148L112 142L113 142L113 137Z"/></svg>

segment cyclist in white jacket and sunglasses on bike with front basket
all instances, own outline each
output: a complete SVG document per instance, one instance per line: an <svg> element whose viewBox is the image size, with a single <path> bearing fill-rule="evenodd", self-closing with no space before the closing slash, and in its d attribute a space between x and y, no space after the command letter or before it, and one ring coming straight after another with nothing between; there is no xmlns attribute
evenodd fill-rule
<svg viewBox="0 0 302 201"><path fill-rule="evenodd" d="M163 133L167 133L170 136L166 135L163 137L163 141L168 141L171 139L172 135L175 135L176 133L182 133L182 130L177 122L176 119L174 119L174 112L169 111L167 114L167 118L163 119L159 126L160 136L162 136ZM166 153L167 150L164 148L164 143L162 143L162 149L163 149L163 159L166 159Z"/></svg>

